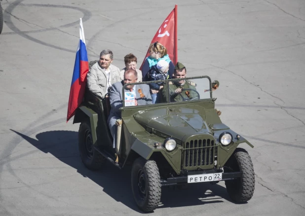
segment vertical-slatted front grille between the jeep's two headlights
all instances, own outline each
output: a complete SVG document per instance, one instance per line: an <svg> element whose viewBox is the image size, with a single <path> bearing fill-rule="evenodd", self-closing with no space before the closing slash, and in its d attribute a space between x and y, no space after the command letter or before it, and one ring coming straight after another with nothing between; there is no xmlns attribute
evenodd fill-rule
<svg viewBox="0 0 305 216"><path fill-rule="evenodd" d="M215 150L217 150L214 140L190 140L186 142L183 150L184 169L211 169L214 167Z"/></svg>

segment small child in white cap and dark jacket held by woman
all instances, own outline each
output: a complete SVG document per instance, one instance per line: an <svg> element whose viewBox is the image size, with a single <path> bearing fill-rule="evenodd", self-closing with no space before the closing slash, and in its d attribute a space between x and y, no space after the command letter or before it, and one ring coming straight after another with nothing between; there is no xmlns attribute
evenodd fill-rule
<svg viewBox="0 0 305 216"><path fill-rule="evenodd" d="M152 69L149 71L148 77L150 81L167 80L169 78L168 69L168 62L166 62L165 60L158 61L158 63L156 65L153 65ZM150 87L152 92L152 103L159 103L162 96L162 83L152 83L150 84Z"/></svg>

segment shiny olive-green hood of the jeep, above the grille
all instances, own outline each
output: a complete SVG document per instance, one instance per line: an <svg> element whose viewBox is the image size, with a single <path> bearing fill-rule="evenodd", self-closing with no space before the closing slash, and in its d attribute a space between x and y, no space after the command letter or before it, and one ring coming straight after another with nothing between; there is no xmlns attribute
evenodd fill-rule
<svg viewBox="0 0 305 216"><path fill-rule="evenodd" d="M146 129L152 128L180 140L187 134L210 133L204 109L196 109L196 106L141 111L134 119Z"/></svg>

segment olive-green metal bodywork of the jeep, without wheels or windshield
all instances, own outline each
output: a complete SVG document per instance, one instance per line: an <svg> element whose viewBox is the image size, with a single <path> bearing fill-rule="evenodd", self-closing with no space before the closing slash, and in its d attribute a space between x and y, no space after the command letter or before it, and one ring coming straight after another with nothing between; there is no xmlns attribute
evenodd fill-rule
<svg viewBox="0 0 305 216"><path fill-rule="evenodd" d="M78 108L74 123L89 119L94 145L100 150L111 149L113 143L107 128L107 115L101 113L103 101L97 96L88 98ZM221 122L212 93L210 99L204 100L123 107L121 116L121 158L125 162L139 156L147 160L153 158L178 175L183 171L220 169L240 143L253 147L242 136L237 139L237 133ZM218 141L222 132L233 136L228 146ZM168 137L177 142L172 152L162 145ZM157 147L156 142L160 143Z"/></svg>

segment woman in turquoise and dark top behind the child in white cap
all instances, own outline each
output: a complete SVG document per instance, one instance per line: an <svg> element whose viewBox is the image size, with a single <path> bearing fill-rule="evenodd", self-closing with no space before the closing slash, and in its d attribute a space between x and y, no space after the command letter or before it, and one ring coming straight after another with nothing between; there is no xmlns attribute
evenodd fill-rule
<svg viewBox="0 0 305 216"><path fill-rule="evenodd" d="M143 81L150 81L148 77L148 72L152 68L153 65L156 65L158 61L165 60L169 64L169 79L172 78L172 74L174 73L174 64L169 59L169 56L167 54L167 49L165 46L163 46L161 43L155 42L150 45L150 56L145 59L144 65L142 67L142 77Z"/></svg>

